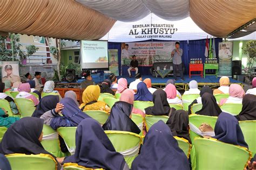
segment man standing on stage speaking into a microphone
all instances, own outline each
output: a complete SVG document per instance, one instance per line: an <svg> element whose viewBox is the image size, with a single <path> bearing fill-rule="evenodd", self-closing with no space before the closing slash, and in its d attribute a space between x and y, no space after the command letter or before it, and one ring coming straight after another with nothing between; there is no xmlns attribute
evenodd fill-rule
<svg viewBox="0 0 256 170"><path fill-rule="evenodd" d="M183 76L183 69L182 69L182 60L181 56L183 54L183 49L179 48L179 42L175 43L175 49L172 51L172 62L173 62L173 76L174 80L177 80L177 69L179 70L180 73L180 78L182 81L184 81L184 76Z"/></svg>

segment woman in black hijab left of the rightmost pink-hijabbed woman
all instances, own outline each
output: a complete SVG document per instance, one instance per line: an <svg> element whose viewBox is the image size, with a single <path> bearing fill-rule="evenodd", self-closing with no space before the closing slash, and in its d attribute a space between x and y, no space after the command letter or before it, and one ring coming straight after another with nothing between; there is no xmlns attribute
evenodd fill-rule
<svg viewBox="0 0 256 170"><path fill-rule="evenodd" d="M195 114L205 116L219 116L219 114L222 112L219 105L217 104L216 98L210 93L203 94L202 104L202 109L197 111Z"/></svg>

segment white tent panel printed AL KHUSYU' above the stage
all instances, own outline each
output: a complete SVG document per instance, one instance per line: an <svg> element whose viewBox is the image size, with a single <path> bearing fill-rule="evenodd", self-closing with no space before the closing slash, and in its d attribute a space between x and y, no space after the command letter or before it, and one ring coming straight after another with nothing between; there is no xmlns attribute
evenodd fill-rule
<svg viewBox="0 0 256 170"><path fill-rule="evenodd" d="M147 27L147 25L150 25ZM158 27L159 25L173 25L173 27ZM146 27L145 27L146 26ZM137 28L133 28L137 27ZM165 34L160 34L159 32L155 34L143 34L142 29L174 29ZM134 33L134 29L137 31L137 35L132 35L129 33L131 30ZM177 29L177 30L176 30ZM159 30L158 30L159 31ZM181 19L178 21L168 21L151 13L145 18L137 21L137 22L120 22L117 21L112 29L100 40L108 40L110 42L133 42L133 41L144 41L150 39L158 39L158 40L197 40L197 39L205 39L208 36L210 38L210 34L201 30L190 17L185 19Z"/></svg>

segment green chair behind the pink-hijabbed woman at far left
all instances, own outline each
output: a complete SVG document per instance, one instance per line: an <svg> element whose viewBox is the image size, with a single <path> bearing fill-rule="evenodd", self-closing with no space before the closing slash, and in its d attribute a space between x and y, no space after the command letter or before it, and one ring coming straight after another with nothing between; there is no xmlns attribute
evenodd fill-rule
<svg viewBox="0 0 256 170"><path fill-rule="evenodd" d="M17 108L19 110L19 114L22 117L31 117L36 107L32 100L27 98L15 98L14 99Z"/></svg>

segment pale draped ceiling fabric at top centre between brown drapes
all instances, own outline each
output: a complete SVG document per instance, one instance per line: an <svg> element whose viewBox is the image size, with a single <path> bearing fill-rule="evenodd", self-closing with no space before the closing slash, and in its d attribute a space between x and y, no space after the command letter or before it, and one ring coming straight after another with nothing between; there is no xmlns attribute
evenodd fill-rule
<svg viewBox="0 0 256 170"><path fill-rule="evenodd" d="M167 20L189 16L189 0L76 0L91 9L122 22L140 20L150 12Z"/></svg>

